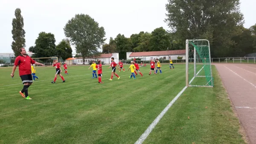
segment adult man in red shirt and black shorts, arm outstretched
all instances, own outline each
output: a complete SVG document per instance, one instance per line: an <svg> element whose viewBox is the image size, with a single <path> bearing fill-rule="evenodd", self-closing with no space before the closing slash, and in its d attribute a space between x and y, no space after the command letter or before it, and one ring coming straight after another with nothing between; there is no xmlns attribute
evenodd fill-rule
<svg viewBox="0 0 256 144"><path fill-rule="evenodd" d="M38 63L32 58L30 58L26 54L25 48L20 48L19 52L20 52L20 55L17 56L17 58L15 59L14 66L12 68L11 77L12 78L14 77L15 69L17 66L19 66L19 75L20 75L22 84L24 85L23 89L20 91L20 95L23 98L30 100L32 98L29 97L28 88L33 83L32 74L31 74L31 64L36 64L41 66L45 66L45 65L42 63ZM25 95L23 94L24 92L25 92Z"/></svg>

